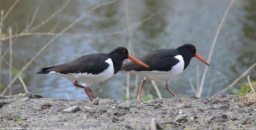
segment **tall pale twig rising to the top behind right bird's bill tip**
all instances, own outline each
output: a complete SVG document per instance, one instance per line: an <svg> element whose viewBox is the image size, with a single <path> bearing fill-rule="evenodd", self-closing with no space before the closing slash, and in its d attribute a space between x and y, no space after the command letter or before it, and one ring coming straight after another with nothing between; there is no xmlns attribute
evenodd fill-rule
<svg viewBox="0 0 256 130"><path fill-rule="evenodd" d="M230 8L232 7L232 4L234 3L235 0L231 0L230 3L228 4L228 7L227 7L227 10L225 11L222 19L221 19L221 22L220 22L220 25L216 31L216 34L214 36L214 40L212 41L212 46L211 46L211 50L209 52L209 56L208 56L208 59L207 59L207 62L210 63L211 61L211 57L212 57L212 52L214 50L214 47L215 47L215 44L216 44L216 41L218 40L218 36L220 34L220 31L221 31L221 28L225 22L225 19L228 15L228 11L230 10ZM199 92L198 92L198 95L197 97L201 97L202 95L202 90L203 90L203 87L204 87L204 82L205 82L205 77L206 77L206 74L207 74L207 69L208 69L208 66L205 66L204 68L204 73L203 73L203 76L202 76L202 80L201 80L201 83L200 83L200 89L199 89Z"/></svg>

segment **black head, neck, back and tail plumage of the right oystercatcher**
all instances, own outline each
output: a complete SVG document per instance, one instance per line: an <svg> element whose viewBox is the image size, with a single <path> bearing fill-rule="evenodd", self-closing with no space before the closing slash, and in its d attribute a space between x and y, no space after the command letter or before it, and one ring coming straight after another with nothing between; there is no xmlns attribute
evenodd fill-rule
<svg viewBox="0 0 256 130"><path fill-rule="evenodd" d="M192 57L195 57L195 52L191 48L194 47L191 44L184 44L177 49L161 49L154 52L150 52L144 57L140 57L139 60L147 64L150 68L145 68L134 62L129 62L122 66L121 70L124 71L170 71L172 66L179 62L175 58L176 55L182 55L184 59L184 69L188 67L188 64ZM195 47L194 47L195 48Z"/></svg>

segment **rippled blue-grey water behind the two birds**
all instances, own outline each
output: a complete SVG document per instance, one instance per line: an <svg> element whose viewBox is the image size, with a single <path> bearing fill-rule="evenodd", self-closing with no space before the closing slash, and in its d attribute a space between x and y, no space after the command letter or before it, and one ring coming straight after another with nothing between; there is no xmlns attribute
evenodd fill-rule
<svg viewBox="0 0 256 130"><path fill-rule="evenodd" d="M1 1L0 10L4 10L6 13L14 2ZM31 27L35 27L50 17L65 2L43 1ZM72 1L49 22L33 32L60 32L94 6L104 2L106 1ZM198 54L207 59L216 29L229 2L228 0L166 0L161 2L148 0L126 1L126 3L125 1L116 1L102 6L88 13L83 20L65 32L72 35L60 36L51 43L22 73L22 78L28 86L29 92L39 93L44 97L84 99L87 98L84 90L74 87L72 81L56 75L36 75L36 71L47 66L72 61L82 55L108 53L117 46L128 48L129 40L131 40L133 47L130 54L135 57L161 48L177 48L184 43L192 43ZM40 1L20 1L17 3L10 15L4 20L4 34L8 34L6 29L9 26L12 27L13 32L23 31L28 21L31 21L39 4ZM253 0L237 0L233 4L214 48L202 97L207 95L212 78L216 73L223 73L227 78L217 76L211 94L227 87L256 61L255 5L256 2ZM127 22L127 12L129 13L129 22ZM153 14L154 17L138 24ZM129 26L131 27L131 38L129 38L127 31ZM124 29L126 30L123 31ZM109 34L111 32L116 33ZM20 36L14 40L13 67L18 70L22 69L51 38L53 36ZM8 47L8 40L4 41L2 52L8 51ZM9 61L9 53L8 51L4 56L7 61ZM193 58L188 68L171 80L170 87L173 92L176 94L193 94L188 81L190 79L194 85L196 84L196 66L200 69L200 76L202 76L205 65ZM252 69L249 75L251 80L255 80L255 69ZM8 85L8 77L8 65L2 61L1 91ZM140 81L142 79L142 77L139 78ZM243 82L246 82L246 78L243 78L239 83ZM239 83L235 86L236 88ZM106 82L92 85L91 88L100 98L120 100L125 96L125 89L122 85L126 85L126 73L120 71ZM159 82L157 85L163 98L171 97L171 94L164 89L164 83ZM13 94L20 92L24 92L24 89L17 80L13 85ZM157 97L149 81L146 82L143 92ZM134 94L134 75L131 75L132 94Z"/></svg>

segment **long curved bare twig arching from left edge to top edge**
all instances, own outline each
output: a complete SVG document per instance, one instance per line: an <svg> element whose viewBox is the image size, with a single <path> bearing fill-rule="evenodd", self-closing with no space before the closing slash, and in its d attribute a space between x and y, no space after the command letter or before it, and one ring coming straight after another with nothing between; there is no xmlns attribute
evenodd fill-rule
<svg viewBox="0 0 256 130"><path fill-rule="evenodd" d="M109 1L109 2L106 2L106 3L102 3L102 4L99 4L97 6L94 6L91 10L89 11L86 11L81 17L77 18L74 22L72 22L70 25L68 25L68 27L66 27L65 29L63 29L63 31L61 31L59 34L57 34L56 36L54 36L54 38L52 38L48 43L46 43L44 45L44 47L41 48L41 50L39 50L37 52L37 54L20 70L20 72L13 78L12 82L4 89L4 91L1 93L1 96L3 96L3 94L6 92L7 89L10 88L10 86L12 85L12 83L15 82L15 80L17 80L18 76L20 76L20 74L26 70L28 68L28 66L31 64L31 62L33 62L36 57L38 57L38 55L40 55L44 50L45 48L47 48L49 45L51 45L52 41L56 40L61 34L63 34L65 31L67 31L68 29L70 29L70 27L72 27L74 24L76 24L77 22L79 22L81 19L83 19L85 16L87 16L89 13L91 13L93 10L96 10L97 8L100 8L101 6L106 6L108 4L112 4L112 3L115 3L116 0L113 0L113 1Z"/></svg>

